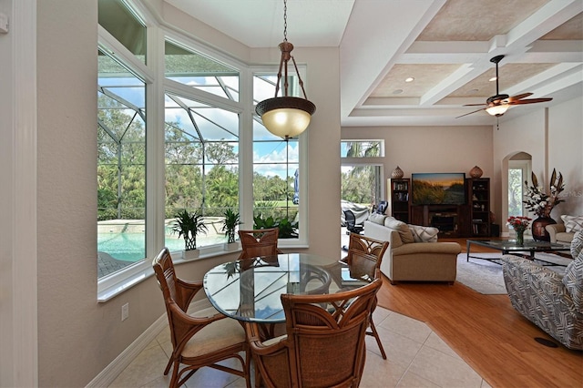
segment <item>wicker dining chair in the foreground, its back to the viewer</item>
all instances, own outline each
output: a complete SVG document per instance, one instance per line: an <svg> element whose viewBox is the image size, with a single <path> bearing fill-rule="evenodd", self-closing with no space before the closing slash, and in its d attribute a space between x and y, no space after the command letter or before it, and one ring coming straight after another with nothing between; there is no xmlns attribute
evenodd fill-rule
<svg viewBox="0 0 583 388"><path fill-rule="evenodd" d="M323 295L281 294L286 334L261 341L260 325L246 322L255 386L357 387L366 358L364 338L383 281Z"/></svg>

